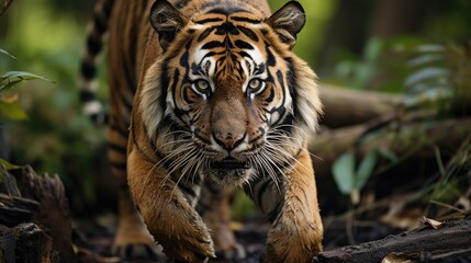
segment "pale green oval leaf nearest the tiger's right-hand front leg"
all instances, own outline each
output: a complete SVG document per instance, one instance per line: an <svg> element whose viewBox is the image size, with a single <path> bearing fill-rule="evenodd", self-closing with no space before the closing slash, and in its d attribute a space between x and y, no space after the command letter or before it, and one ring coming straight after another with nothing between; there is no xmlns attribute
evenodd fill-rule
<svg viewBox="0 0 471 263"><path fill-rule="evenodd" d="M343 194L349 194L355 187L355 155L347 151L338 157L333 167L332 172L337 187Z"/></svg>

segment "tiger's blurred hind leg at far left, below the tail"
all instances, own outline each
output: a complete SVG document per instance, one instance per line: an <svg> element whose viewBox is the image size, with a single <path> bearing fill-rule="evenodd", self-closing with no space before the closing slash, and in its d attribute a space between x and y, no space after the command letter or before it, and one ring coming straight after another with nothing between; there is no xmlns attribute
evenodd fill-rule
<svg viewBox="0 0 471 263"><path fill-rule="evenodd" d="M154 244L154 240L148 233L127 187L127 128L124 128L124 121L115 121L112 111L110 116L109 159L111 172L117 184L117 229L113 251L123 259L154 259L157 255L157 247Z"/></svg>

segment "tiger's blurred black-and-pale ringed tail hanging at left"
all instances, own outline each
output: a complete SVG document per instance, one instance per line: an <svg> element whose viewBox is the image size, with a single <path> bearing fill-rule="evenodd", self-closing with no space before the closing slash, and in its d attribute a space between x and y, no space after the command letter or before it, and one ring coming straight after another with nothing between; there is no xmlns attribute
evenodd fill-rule
<svg viewBox="0 0 471 263"><path fill-rule="evenodd" d="M96 80L99 55L108 32L108 22L114 0L100 0L93 10L93 18L87 28L87 43L80 61L79 92L82 112L97 124L108 123L108 113L97 99Z"/></svg>

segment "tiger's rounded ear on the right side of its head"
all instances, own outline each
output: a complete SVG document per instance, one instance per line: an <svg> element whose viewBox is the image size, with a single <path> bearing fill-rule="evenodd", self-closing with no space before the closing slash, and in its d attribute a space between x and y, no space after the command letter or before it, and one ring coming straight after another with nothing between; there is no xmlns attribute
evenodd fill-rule
<svg viewBox="0 0 471 263"><path fill-rule="evenodd" d="M280 39L292 48L296 43L296 34L303 28L305 21L303 7L296 1L290 1L274 12L267 23L277 32Z"/></svg>

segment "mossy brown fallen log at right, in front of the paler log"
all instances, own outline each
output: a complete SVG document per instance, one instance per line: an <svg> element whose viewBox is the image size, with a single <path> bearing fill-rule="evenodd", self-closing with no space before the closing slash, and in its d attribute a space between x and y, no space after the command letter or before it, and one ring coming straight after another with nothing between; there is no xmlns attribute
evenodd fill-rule
<svg viewBox="0 0 471 263"><path fill-rule="evenodd" d="M410 123L391 122L375 136L360 141L369 132L370 125L355 125L329 129L313 137L309 149L313 158L317 178L330 175L330 167L341 153L355 149L358 157L371 150L388 150L401 157L411 150L420 158L434 157L430 147L437 147L444 153L455 152L471 134L471 118L450 118L441 121L418 121ZM444 133L446 130L446 133Z"/></svg>

